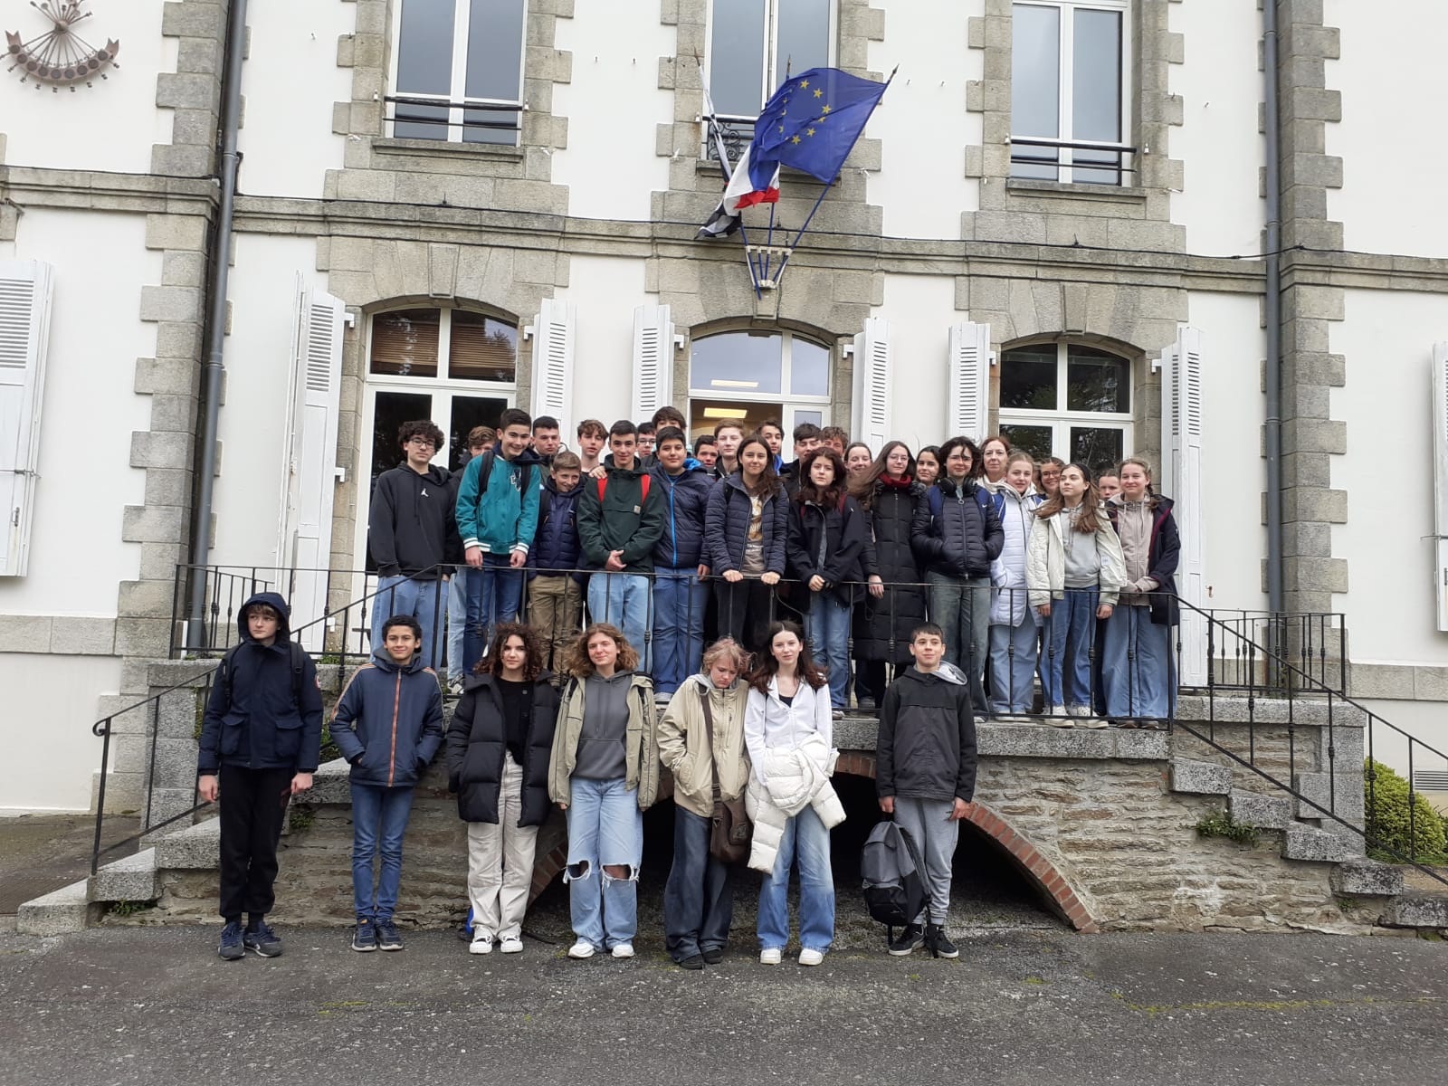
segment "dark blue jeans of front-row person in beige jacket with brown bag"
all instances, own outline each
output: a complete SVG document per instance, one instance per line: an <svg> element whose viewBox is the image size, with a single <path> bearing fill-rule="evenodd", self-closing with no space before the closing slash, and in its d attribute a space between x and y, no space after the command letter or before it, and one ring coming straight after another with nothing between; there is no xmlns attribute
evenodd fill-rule
<svg viewBox="0 0 1448 1086"><path fill-rule="evenodd" d="M723 950L734 918L734 877L710 856L712 820L673 808L673 866L663 888L663 946L682 961Z"/></svg>

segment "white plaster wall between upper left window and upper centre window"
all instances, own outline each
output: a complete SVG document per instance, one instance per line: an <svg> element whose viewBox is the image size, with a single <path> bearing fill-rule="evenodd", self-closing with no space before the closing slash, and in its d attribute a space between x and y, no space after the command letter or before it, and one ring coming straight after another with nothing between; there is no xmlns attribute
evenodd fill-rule
<svg viewBox="0 0 1448 1086"><path fill-rule="evenodd" d="M573 54L572 83L553 88L553 113L569 117L568 146L553 152L553 182L569 187L569 214L647 222L650 194L669 187L654 132L673 120L659 58L675 55L675 28L659 23L654 0L582 3L557 20L557 48ZM694 56L678 64L692 67Z"/></svg>

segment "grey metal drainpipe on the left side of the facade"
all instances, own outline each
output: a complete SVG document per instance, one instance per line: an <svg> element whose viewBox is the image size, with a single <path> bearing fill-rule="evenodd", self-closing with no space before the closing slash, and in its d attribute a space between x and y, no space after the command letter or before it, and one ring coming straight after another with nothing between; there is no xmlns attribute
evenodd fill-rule
<svg viewBox="0 0 1448 1086"><path fill-rule="evenodd" d="M200 447L195 510L191 517L191 607L187 623L187 647L204 647L206 563L211 552L211 498L216 489L216 434L222 416L222 355L226 346L226 287L232 261L232 216L236 209L236 130L242 119L242 64L246 55L246 0L232 0L226 29L226 75L222 87L222 201L217 209L216 243L211 249L211 313L206 369L201 388L206 397Z"/></svg>

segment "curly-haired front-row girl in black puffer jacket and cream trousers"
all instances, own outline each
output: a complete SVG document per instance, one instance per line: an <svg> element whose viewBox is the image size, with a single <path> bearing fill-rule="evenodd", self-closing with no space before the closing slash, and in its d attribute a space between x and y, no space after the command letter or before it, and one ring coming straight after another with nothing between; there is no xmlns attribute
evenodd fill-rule
<svg viewBox="0 0 1448 1086"><path fill-rule="evenodd" d="M447 789L468 822L472 954L523 950L539 827L552 804L549 754L557 691L543 670L543 643L518 623L500 623L492 647L466 678L447 728Z"/></svg>

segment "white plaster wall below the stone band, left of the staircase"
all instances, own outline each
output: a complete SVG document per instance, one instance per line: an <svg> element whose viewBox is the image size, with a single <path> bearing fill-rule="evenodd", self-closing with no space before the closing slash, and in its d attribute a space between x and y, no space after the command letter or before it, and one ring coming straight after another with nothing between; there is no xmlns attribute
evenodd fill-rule
<svg viewBox="0 0 1448 1086"><path fill-rule="evenodd" d="M97 695L120 689L120 660L4 653L0 689L0 811L88 809L101 747L90 725Z"/></svg>

